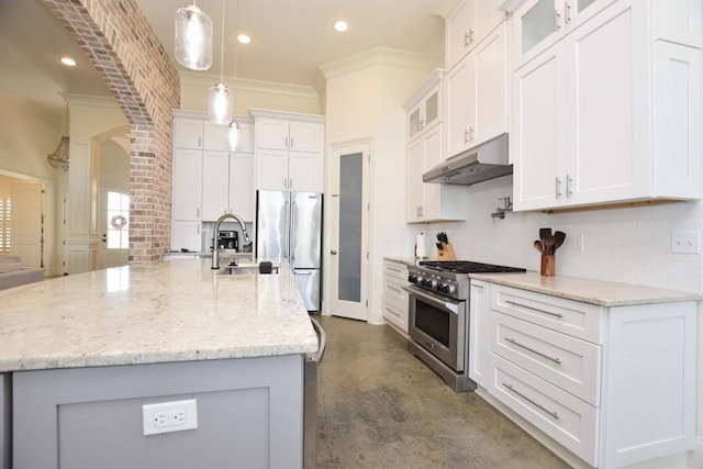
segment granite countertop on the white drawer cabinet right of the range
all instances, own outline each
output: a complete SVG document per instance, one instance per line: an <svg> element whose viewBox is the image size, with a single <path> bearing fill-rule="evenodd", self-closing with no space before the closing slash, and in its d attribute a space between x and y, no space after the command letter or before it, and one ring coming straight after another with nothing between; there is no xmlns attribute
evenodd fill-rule
<svg viewBox="0 0 703 469"><path fill-rule="evenodd" d="M703 294L576 277L543 277L539 272L471 273L472 279L546 293L600 306L700 301Z"/></svg>

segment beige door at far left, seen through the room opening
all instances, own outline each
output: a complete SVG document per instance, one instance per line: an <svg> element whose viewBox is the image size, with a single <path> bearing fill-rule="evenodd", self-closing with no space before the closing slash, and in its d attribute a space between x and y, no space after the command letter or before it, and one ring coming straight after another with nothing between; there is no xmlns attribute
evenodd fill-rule
<svg viewBox="0 0 703 469"><path fill-rule="evenodd" d="M44 267L43 190L43 185L38 182L13 183L10 189L10 250L21 257L24 267Z"/></svg>

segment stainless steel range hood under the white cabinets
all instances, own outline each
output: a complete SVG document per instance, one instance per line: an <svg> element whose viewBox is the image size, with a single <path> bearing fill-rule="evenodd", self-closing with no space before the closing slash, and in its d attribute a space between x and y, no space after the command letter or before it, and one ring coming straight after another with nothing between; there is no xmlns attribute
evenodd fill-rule
<svg viewBox="0 0 703 469"><path fill-rule="evenodd" d="M423 182L471 186L477 182L511 175L507 163L507 134L467 149L422 175Z"/></svg>

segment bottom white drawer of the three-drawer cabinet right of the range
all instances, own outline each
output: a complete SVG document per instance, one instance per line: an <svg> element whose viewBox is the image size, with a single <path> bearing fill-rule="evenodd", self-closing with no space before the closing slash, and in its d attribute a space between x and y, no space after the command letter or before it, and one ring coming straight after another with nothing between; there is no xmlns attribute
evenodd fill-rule
<svg viewBox="0 0 703 469"><path fill-rule="evenodd" d="M596 466L599 409L491 356L491 394L581 459Z"/></svg>

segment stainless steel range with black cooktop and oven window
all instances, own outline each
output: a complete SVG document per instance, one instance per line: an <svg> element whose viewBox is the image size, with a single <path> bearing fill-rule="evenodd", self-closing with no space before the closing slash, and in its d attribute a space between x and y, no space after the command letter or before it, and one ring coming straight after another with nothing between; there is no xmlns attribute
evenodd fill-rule
<svg viewBox="0 0 703 469"><path fill-rule="evenodd" d="M421 261L408 267L411 340L408 349L456 392L471 391L468 376L469 273L525 269L471 261Z"/></svg>

